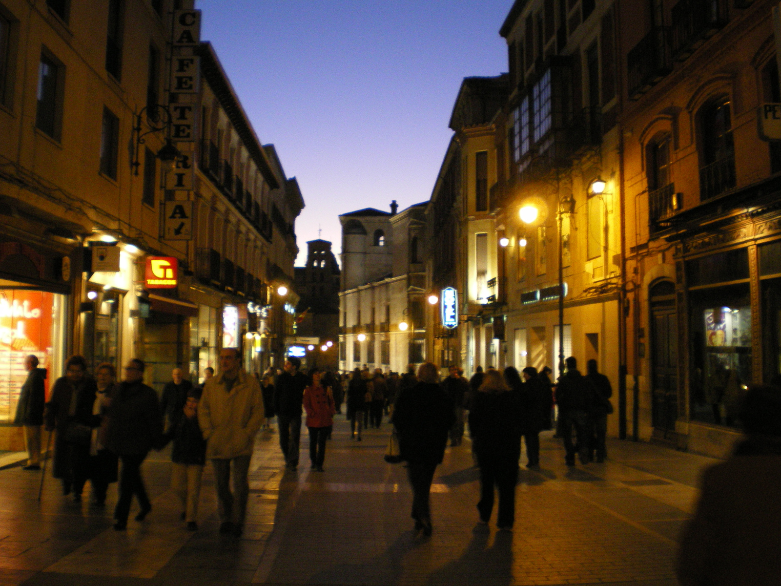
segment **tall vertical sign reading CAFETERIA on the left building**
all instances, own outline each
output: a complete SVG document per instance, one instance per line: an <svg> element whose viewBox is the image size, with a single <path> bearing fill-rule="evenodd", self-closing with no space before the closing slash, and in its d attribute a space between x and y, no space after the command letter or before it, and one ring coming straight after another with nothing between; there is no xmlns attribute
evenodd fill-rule
<svg viewBox="0 0 781 586"><path fill-rule="evenodd" d="M201 42L201 11L173 11L173 55L169 78L171 140L182 153L176 167L166 173L166 189L194 188L195 123L201 89L201 58L195 48Z"/></svg>

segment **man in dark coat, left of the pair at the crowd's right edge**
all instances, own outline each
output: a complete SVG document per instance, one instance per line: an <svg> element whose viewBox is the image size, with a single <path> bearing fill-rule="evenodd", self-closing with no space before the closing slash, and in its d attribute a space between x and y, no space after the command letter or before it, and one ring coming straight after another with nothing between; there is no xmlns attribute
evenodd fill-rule
<svg viewBox="0 0 781 586"><path fill-rule="evenodd" d="M593 391L586 377L578 371L574 356L566 359L567 372L559 379L556 387L558 416L562 417L565 461L567 466L575 466L575 452L580 455L580 463L588 463L589 445L589 408L593 401ZM577 444L572 445L572 427L577 434Z"/></svg>

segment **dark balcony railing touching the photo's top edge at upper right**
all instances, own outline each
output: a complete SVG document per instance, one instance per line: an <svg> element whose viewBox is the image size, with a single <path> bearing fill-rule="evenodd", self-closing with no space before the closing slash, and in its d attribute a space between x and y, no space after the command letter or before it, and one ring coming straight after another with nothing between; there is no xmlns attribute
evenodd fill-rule
<svg viewBox="0 0 781 586"><path fill-rule="evenodd" d="M672 7L672 58L683 61L727 23L725 0L679 0Z"/></svg>

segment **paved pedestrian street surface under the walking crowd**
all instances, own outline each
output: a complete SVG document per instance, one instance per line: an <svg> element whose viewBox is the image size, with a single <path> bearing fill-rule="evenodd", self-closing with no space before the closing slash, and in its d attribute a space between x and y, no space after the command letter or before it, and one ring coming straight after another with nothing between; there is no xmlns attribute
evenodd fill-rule
<svg viewBox="0 0 781 586"><path fill-rule="evenodd" d="M59 482L19 467L0 470L0 586L174 584L639 584L674 586L679 529L697 477L715 460L609 441L608 462L568 469L551 432L542 469L521 469L515 531L478 526L477 470L469 441L448 448L432 492L434 531L415 537L405 469L383 462L390 427L351 441L337 416L325 472L286 471L276 434L259 434L241 539L217 532L207 466L199 531L185 531L168 490L166 453L144 463L152 513L112 530L116 484L105 509L63 497ZM525 459L523 460L525 462ZM134 506L136 506L134 504ZM494 522L495 522L494 512Z"/></svg>

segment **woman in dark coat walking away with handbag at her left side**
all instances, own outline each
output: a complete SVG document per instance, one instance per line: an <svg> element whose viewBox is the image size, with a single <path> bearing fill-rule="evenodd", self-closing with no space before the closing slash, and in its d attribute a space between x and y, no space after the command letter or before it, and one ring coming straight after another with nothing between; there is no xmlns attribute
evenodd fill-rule
<svg viewBox="0 0 781 586"><path fill-rule="evenodd" d="M398 433L401 459L408 464L415 531L423 531L426 536L431 534L431 482L437 464L444 458L454 421L453 402L440 388L437 365L422 364L415 386L399 394L392 423Z"/></svg>

